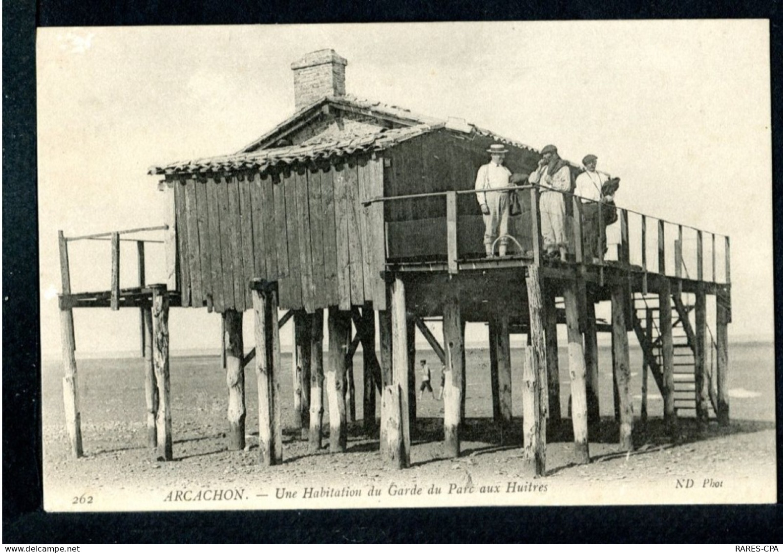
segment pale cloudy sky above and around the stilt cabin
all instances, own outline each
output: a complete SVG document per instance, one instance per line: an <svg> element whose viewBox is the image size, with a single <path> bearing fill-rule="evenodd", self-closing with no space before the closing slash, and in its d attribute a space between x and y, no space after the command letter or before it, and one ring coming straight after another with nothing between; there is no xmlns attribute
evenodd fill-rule
<svg viewBox="0 0 783 553"><path fill-rule="evenodd" d="M348 60L349 94L554 143L572 161L596 154L622 179L622 207L730 236L730 339L772 338L767 21L39 28L37 42L45 357L60 352L57 230L161 225L147 169L251 143L294 112L290 64L324 48ZM69 253L74 291L109 289L108 242ZM146 257L147 282L164 281L162 246ZM135 245L122 258L133 286ZM135 310L74 319L80 355L138 348ZM219 347L206 309L172 309L170 328L172 351Z"/></svg>

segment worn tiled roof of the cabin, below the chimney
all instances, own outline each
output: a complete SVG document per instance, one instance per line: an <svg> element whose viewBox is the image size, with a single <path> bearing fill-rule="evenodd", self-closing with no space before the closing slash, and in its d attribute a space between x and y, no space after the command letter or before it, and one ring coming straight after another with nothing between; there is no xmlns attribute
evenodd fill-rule
<svg viewBox="0 0 783 553"><path fill-rule="evenodd" d="M403 124L411 126L403 128L381 129L363 134L341 133L340 135L330 135L319 138L315 136L305 143L294 146L284 146L279 148L265 148L258 150L258 146L265 143L270 137L278 132L284 132L287 125L294 123L310 110L319 109L321 106L329 103L338 109L348 107L353 110L366 111L377 117L391 117L402 121ZM254 143L246 146L236 154L218 157L203 157L200 159L179 161L164 166L155 166L150 168L150 175L175 175L175 174L193 174L207 172L230 172L247 169L265 171L275 165L294 164L302 161L314 161L318 159L327 159L330 157L344 157L359 152L370 152L384 150L396 143L404 142L415 136L434 131L438 128L446 128L452 132L460 132L467 135L484 136L493 139L498 143L504 143L508 146L515 146L523 150L529 150L538 153L530 146L526 146L516 140L507 139L494 132L478 128L464 121L464 119L438 119L423 115L413 114L410 110L401 107L390 106L380 102L370 102L355 98L354 96L325 96L323 99L312 103L310 106L298 110L296 114L289 117L280 125L277 125L271 131L267 132Z"/></svg>

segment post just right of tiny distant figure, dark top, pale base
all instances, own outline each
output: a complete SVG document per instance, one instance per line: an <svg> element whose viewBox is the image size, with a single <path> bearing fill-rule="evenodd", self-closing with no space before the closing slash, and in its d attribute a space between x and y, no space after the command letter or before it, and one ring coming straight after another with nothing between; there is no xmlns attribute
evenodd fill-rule
<svg viewBox="0 0 783 553"><path fill-rule="evenodd" d="M460 405L464 379L464 327L459 291L449 290L443 303L443 345L446 347L446 382L443 388L443 450L460 456Z"/></svg>

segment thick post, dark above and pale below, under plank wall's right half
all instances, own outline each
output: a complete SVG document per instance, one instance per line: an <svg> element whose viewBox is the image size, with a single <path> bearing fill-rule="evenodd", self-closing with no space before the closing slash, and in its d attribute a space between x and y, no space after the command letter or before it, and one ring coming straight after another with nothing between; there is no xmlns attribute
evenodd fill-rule
<svg viewBox="0 0 783 553"><path fill-rule="evenodd" d="M345 354L351 337L351 313L337 307L329 308L329 364L327 365L327 396L329 397L329 451L341 453L348 445L348 425L345 413Z"/></svg>

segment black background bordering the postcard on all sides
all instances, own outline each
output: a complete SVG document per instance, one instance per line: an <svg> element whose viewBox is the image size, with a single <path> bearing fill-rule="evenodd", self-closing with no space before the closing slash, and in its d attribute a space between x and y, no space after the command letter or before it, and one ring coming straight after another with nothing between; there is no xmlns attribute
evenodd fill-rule
<svg viewBox="0 0 783 553"><path fill-rule="evenodd" d="M780 505L47 514L42 510L35 28L449 20L770 19L775 282L781 283L781 0L248 2L3 0L3 543L778 543ZM524 45L514 47L524 48ZM742 160L726 160L727 164ZM776 340L781 293L775 295ZM781 352L776 353L778 421ZM778 426L778 459L781 428ZM781 498L778 473L778 503Z"/></svg>

